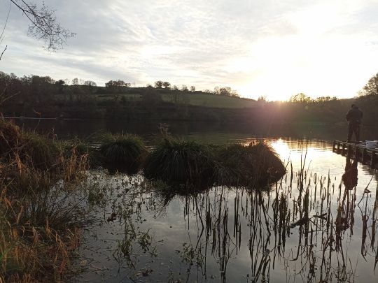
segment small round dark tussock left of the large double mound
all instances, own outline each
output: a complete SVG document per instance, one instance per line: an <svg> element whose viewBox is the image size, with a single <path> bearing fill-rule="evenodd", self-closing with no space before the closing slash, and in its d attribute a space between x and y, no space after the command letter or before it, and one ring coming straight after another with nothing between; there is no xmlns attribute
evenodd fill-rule
<svg viewBox="0 0 378 283"><path fill-rule="evenodd" d="M146 146L141 138L131 134L106 135L99 148L104 164L109 168L137 173L146 157Z"/></svg>

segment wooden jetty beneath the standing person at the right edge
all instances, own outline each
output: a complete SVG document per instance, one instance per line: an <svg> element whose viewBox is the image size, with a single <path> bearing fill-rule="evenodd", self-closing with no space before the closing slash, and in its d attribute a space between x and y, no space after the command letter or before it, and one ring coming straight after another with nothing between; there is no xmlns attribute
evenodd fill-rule
<svg viewBox="0 0 378 283"><path fill-rule="evenodd" d="M378 148L367 148L365 143L348 143L342 140L334 140L332 151L351 159L357 159L362 164L370 165L378 169Z"/></svg>

